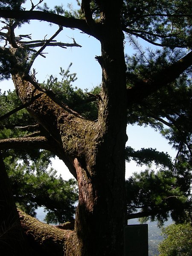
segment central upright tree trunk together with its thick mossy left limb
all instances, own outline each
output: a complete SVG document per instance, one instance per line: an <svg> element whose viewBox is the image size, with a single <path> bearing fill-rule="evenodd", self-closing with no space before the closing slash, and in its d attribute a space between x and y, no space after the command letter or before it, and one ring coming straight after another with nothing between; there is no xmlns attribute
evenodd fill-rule
<svg viewBox="0 0 192 256"><path fill-rule="evenodd" d="M93 25L102 47L102 55L96 57L102 67L98 122L58 103L29 76L12 74L23 104L39 95L27 109L48 131L60 155L73 161L73 173L76 170L79 205L65 256L123 255L127 119L122 1L98 2L103 20L102 26Z"/></svg>

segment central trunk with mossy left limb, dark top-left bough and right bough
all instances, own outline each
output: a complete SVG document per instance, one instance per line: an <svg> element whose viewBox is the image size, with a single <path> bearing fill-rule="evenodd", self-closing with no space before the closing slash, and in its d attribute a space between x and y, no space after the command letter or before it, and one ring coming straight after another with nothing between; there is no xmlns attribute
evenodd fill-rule
<svg viewBox="0 0 192 256"><path fill-rule="evenodd" d="M7 11L10 16L2 16L20 20L29 17L53 22L59 26L78 28L94 36L101 43L102 55L96 56L102 68L98 122L85 120L61 102L57 102L50 91L40 88L35 81L32 81L29 74L26 74L34 59L27 63L25 47L20 48L17 41L12 40L16 23L10 27L8 41L12 47L3 49L3 52L13 57L13 63L10 61L12 65L10 69L21 101L27 105L29 113L49 134L43 139L44 142L46 141L48 148L55 145L53 151L64 160L78 180L79 205L76 211L75 229L69 233L69 238L67 236L66 256L123 255L123 226L126 212L124 153L128 107L124 35L121 24L123 3L125 3L123 0L81 0L82 19L55 16L49 12L44 12L43 15L37 11L32 11L31 15L30 11L18 11L18 16L18 12L14 10L13 13L11 10ZM36 56L39 53L38 51ZM166 68L171 76L167 76L165 70L162 70L152 80L138 79L131 88L131 93L128 94L131 105L133 104L131 97L134 96L134 103L141 102L144 97L162 87L162 84L177 78L190 66L191 54L188 53ZM23 70L26 68L27 70ZM163 79L159 79L162 75ZM160 80L160 83L157 80ZM5 206L5 209L6 207L8 206ZM35 233L38 232L35 230Z"/></svg>

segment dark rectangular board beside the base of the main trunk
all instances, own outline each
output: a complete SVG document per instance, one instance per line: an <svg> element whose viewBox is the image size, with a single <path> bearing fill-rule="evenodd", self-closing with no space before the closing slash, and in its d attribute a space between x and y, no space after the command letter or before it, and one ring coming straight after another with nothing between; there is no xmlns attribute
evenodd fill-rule
<svg viewBox="0 0 192 256"><path fill-rule="evenodd" d="M148 224L125 226L125 256L148 256Z"/></svg>

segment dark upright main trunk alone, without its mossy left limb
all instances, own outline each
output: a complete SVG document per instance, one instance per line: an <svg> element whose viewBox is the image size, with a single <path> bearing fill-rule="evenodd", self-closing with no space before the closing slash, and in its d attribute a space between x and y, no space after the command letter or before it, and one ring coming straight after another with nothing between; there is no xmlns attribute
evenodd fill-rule
<svg viewBox="0 0 192 256"><path fill-rule="evenodd" d="M113 16L114 10L108 10L108 14L110 12ZM76 242L70 241L67 256L123 255L126 67L124 35L117 15L114 14L112 23L105 23L101 36L102 56L96 57L102 67L97 136L85 157L86 165L74 160L79 183L79 206L76 240L73 234L73 242Z"/></svg>

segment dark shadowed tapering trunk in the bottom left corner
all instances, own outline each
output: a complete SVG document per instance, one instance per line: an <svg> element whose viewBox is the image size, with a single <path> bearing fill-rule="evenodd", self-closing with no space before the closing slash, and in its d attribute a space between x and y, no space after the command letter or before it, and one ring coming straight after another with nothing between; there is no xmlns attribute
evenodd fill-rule
<svg viewBox="0 0 192 256"><path fill-rule="evenodd" d="M19 215L0 152L0 252L4 256L23 255L23 246Z"/></svg>

